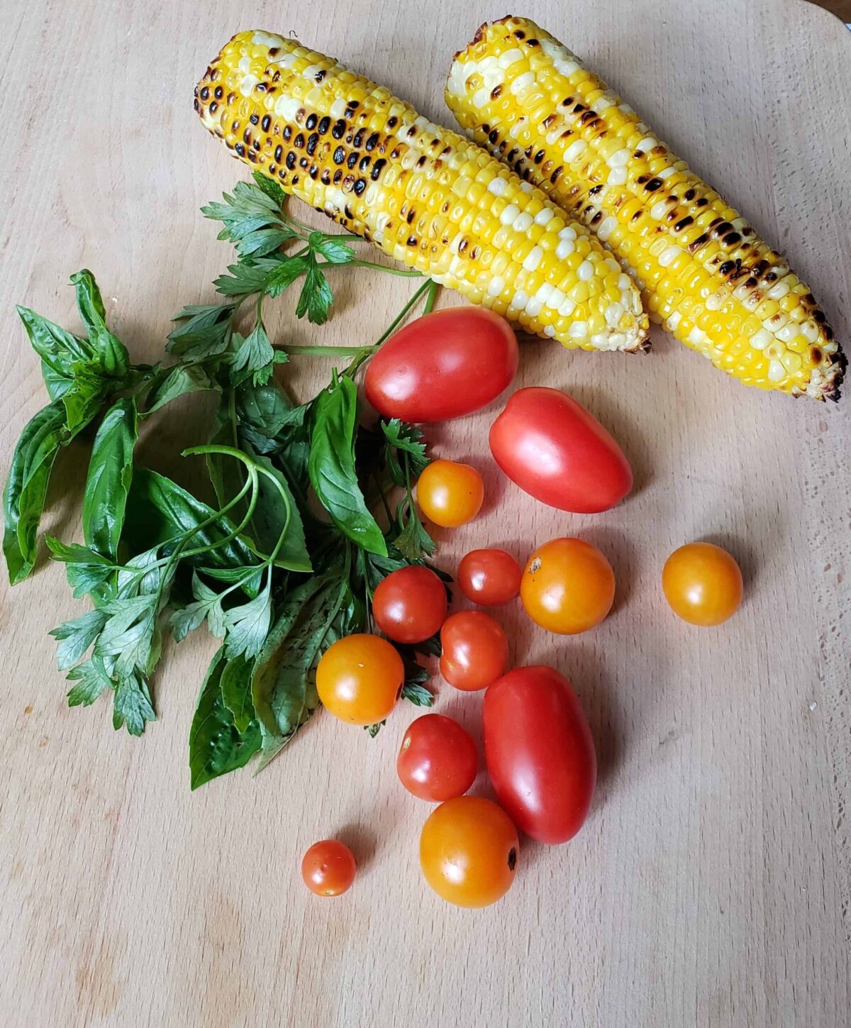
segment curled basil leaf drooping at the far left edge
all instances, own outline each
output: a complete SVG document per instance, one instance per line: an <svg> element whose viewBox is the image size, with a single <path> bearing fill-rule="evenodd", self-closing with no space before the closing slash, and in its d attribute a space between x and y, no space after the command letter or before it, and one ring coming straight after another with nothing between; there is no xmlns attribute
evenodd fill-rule
<svg viewBox="0 0 851 1028"><path fill-rule="evenodd" d="M23 582L35 565L50 471L68 438L65 407L54 400L30 419L17 440L3 490L3 554L12 585Z"/></svg>

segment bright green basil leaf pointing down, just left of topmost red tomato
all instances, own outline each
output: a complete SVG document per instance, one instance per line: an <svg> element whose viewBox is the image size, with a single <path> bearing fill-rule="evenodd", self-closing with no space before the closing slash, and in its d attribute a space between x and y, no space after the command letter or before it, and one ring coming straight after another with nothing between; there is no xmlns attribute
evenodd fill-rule
<svg viewBox="0 0 851 1028"><path fill-rule="evenodd" d="M387 547L367 510L355 471L358 390L350 378L336 379L313 403L307 471L320 503L337 528L370 553L386 556Z"/></svg>

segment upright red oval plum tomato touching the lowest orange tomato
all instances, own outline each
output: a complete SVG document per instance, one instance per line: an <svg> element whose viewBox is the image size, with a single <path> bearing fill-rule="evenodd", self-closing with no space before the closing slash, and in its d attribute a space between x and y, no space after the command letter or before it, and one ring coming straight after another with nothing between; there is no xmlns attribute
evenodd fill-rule
<svg viewBox="0 0 851 1028"><path fill-rule="evenodd" d="M487 773L521 832L546 843L571 839L591 806L594 740L567 680L552 667L518 667L482 705Z"/></svg>

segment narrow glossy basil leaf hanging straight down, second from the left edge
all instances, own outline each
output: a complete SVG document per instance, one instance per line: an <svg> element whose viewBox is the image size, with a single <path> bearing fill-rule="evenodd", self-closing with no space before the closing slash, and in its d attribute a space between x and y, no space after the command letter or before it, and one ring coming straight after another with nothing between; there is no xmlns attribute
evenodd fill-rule
<svg viewBox="0 0 851 1028"><path fill-rule="evenodd" d="M118 555L138 438L136 401L118 400L101 421L88 462L82 506L83 539L90 549L113 560Z"/></svg>

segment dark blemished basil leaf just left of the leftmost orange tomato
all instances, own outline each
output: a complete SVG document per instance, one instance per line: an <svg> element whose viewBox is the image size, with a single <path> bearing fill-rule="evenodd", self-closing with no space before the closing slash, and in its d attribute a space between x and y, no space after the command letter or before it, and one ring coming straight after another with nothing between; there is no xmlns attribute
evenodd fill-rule
<svg viewBox="0 0 851 1028"><path fill-rule="evenodd" d="M348 585L313 578L294 589L257 658L252 699L263 734L265 767L319 706L316 664Z"/></svg>

